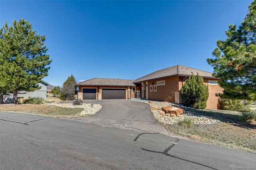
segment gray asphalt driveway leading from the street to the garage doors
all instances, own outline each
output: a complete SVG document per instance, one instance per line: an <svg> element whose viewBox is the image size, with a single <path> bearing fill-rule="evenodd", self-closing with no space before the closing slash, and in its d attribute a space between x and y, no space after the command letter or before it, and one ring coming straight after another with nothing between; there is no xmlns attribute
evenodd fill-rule
<svg viewBox="0 0 256 170"><path fill-rule="evenodd" d="M126 99L83 100L83 103L100 104L102 109L96 115L71 119L85 123L96 123L103 127L118 127L137 131L144 130L170 135L154 119L147 103Z"/></svg>

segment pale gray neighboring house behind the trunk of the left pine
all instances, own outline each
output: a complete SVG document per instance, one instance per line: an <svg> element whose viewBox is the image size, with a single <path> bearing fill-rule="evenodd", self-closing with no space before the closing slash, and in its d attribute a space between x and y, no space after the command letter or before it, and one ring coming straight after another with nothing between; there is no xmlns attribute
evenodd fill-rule
<svg viewBox="0 0 256 170"><path fill-rule="evenodd" d="M28 99L30 97L42 97L46 99L46 91L47 91L47 85L45 81L40 81L38 83L39 87L41 86L41 89L35 90L35 91L19 91L18 92L18 99ZM11 103L13 100L13 94L10 94L6 97L6 102Z"/></svg>

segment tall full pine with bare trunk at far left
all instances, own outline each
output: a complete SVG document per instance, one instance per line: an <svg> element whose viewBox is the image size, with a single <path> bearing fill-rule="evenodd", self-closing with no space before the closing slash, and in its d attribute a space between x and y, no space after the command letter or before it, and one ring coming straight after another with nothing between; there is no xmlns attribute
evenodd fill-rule
<svg viewBox="0 0 256 170"><path fill-rule="evenodd" d="M14 103L18 102L18 91L40 89L37 83L48 75L51 63L44 45L45 36L36 34L32 24L24 19L0 30L0 88L13 92ZM6 86L7 85L7 86Z"/></svg>

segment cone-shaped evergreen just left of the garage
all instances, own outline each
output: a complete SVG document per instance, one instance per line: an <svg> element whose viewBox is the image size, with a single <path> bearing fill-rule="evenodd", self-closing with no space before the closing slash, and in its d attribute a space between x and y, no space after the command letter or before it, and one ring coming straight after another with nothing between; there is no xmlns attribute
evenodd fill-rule
<svg viewBox="0 0 256 170"><path fill-rule="evenodd" d="M63 88L60 92L61 100L74 100L76 94L76 80L73 75L68 77L68 79L63 83Z"/></svg>

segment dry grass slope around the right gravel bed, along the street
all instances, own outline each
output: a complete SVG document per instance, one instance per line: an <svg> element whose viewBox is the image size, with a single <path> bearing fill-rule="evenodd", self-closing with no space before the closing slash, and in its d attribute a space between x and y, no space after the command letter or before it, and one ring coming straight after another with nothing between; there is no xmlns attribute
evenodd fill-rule
<svg viewBox="0 0 256 170"><path fill-rule="evenodd" d="M204 115L221 122L214 125L194 125L182 128L178 125L164 125L170 132L191 140L225 146L256 153L256 123L242 123L235 111L185 109L196 115Z"/></svg>

